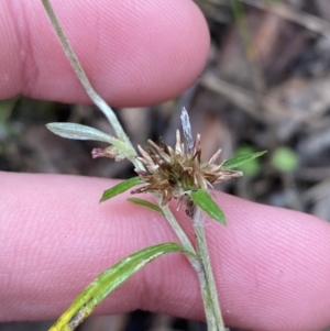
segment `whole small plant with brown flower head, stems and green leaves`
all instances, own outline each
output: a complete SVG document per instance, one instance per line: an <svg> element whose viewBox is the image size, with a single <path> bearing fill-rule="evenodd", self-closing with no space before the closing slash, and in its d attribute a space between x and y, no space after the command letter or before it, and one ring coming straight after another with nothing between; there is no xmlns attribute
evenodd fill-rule
<svg viewBox="0 0 330 331"><path fill-rule="evenodd" d="M63 137L101 141L109 144L103 150L95 148L92 157L111 157L116 161L128 158L131 161L135 166L138 176L106 190L100 202L107 201L127 190L131 190L134 195L142 192L153 194L157 205L136 197L130 198L129 201L162 213L180 241L180 244L162 243L143 249L105 271L74 300L72 306L62 315L51 330L74 330L112 290L118 288L147 263L170 252L185 254L193 269L197 273L208 329L210 331L227 330L221 316L205 236L206 214L222 224L226 224L226 218L209 192L215 183L242 176L242 173L234 168L263 155L265 152L239 155L232 159L217 164L216 161L221 152L219 150L208 162L202 162L201 137L197 135L195 140L193 139L188 112L183 108L182 126L184 141L182 142L180 133L177 131L176 145L174 147L166 145L162 139L158 145L148 141L146 148L138 147L140 151L139 156L112 109L91 87L61 29L50 1L42 0L42 2L78 78L91 100L109 120L117 136L111 136L97 129L75 123L51 123L47 124L47 128ZM136 186L138 188L134 188ZM134 189L132 190L132 188ZM177 209L184 207L187 217L191 219L191 225L196 235L195 244L189 241L172 213L168 207L168 202L172 199L177 199Z"/></svg>

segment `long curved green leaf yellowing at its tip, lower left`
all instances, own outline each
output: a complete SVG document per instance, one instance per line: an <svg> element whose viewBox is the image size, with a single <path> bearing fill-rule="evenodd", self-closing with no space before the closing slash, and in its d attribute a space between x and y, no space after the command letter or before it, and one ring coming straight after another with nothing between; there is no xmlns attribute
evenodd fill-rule
<svg viewBox="0 0 330 331"><path fill-rule="evenodd" d="M72 306L59 317L50 331L68 331L77 328L106 297L147 263L167 253L189 253L176 243L162 243L141 250L121 260L100 274Z"/></svg>

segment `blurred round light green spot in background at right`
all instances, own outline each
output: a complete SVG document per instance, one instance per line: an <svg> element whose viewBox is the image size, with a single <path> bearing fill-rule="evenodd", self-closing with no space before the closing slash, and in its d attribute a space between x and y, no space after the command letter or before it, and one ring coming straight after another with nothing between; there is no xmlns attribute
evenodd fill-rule
<svg viewBox="0 0 330 331"><path fill-rule="evenodd" d="M294 150L283 146L273 153L271 163L276 170L290 173L298 168L299 156Z"/></svg>

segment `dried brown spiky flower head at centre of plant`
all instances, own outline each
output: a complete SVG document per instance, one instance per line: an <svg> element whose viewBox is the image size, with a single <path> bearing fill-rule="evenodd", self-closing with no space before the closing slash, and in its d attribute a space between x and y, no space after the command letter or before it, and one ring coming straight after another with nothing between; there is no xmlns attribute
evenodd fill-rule
<svg viewBox="0 0 330 331"><path fill-rule="evenodd" d="M161 196L163 206L173 198L179 199L177 209L185 205L187 214L193 217L194 201L189 197L190 191L213 188L215 183L240 177L242 173L227 169L222 166L223 163L215 164L221 150L208 162L201 162L200 135L198 134L194 142L190 140L190 134L185 130L184 133L186 144L182 143L177 130L175 148L167 146L162 137L160 145L148 140L147 148L138 146L141 153L138 159L145 166L145 170L135 169L135 172L145 185L133 190L132 194L154 192Z"/></svg>

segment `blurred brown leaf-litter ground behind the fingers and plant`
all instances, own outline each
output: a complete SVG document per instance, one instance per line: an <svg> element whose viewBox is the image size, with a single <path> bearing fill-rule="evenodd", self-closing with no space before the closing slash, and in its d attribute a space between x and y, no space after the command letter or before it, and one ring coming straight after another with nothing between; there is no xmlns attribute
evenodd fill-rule
<svg viewBox="0 0 330 331"><path fill-rule="evenodd" d="M183 96L163 104L117 109L134 145L174 144L185 106L204 158L267 150L217 187L330 221L330 1L198 0L212 45L206 69ZM95 107L15 98L0 101L0 170L128 178L129 163L91 159L96 142L45 129L75 122L109 132ZM101 146L102 147L102 146ZM74 157L73 157L74 154ZM2 304L1 304L2 305ZM0 331L46 330L50 322L0 323ZM79 330L206 330L204 323L136 311L90 318ZM232 329L233 330L233 329ZM330 329L329 329L330 330Z"/></svg>

